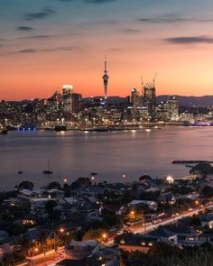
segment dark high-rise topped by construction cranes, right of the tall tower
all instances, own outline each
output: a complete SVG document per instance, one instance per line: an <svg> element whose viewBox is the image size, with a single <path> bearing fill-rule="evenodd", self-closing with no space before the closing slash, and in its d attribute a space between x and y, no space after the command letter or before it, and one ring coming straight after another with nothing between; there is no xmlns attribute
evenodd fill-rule
<svg viewBox="0 0 213 266"><path fill-rule="evenodd" d="M156 92L153 83L147 83L144 86L144 106L147 107L148 118L151 122L155 120Z"/></svg>

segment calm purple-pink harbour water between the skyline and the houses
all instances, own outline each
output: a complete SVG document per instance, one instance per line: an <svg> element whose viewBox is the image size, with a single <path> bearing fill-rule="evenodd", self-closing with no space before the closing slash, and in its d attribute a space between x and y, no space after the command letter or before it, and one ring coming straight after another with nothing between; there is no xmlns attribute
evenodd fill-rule
<svg viewBox="0 0 213 266"><path fill-rule="evenodd" d="M14 188L23 179L36 187L51 180L69 182L97 172L97 181L138 179L144 173L162 178L186 175L189 169L172 160L212 160L213 128L167 127L161 130L83 133L48 131L0 135L0 189ZM53 174L43 175L51 161ZM19 164L23 174L18 175Z"/></svg>

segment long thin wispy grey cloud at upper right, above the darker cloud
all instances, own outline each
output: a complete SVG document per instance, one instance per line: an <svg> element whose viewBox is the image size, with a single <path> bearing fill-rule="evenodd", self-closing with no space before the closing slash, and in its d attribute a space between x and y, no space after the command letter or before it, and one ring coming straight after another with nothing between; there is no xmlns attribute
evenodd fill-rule
<svg viewBox="0 0 213 266"><path fill-rule="evenodd" d="M194 19L194 18L180 18L180 17L155 17L155 18L139 18L141 23L212 23L213 19Z"/></svg>

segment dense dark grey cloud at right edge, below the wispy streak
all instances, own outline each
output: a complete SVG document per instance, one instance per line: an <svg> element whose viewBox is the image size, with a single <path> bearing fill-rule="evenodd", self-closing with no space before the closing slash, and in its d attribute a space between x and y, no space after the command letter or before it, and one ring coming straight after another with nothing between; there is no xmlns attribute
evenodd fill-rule
<svg viewBox="0 0 213 266"><path fill-rule="evenodd" d="M213 43L213 38L210 36L188 36L167 38L164 41L173 44Z"/></svg>

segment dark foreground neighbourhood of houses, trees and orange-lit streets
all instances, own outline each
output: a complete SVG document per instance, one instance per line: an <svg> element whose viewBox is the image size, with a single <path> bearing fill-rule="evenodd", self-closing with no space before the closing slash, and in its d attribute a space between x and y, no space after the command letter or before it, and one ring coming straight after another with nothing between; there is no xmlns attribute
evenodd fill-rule
<svg viewBox="0 0 213 266"><path fill-rule="evenodd" d="M25 180L0 193L0 265L134 265L163 248L191 253L208 244L209 251L211 170L203 163L188 179L144 174L122 183L91 173L39 189Z"/></svg>

